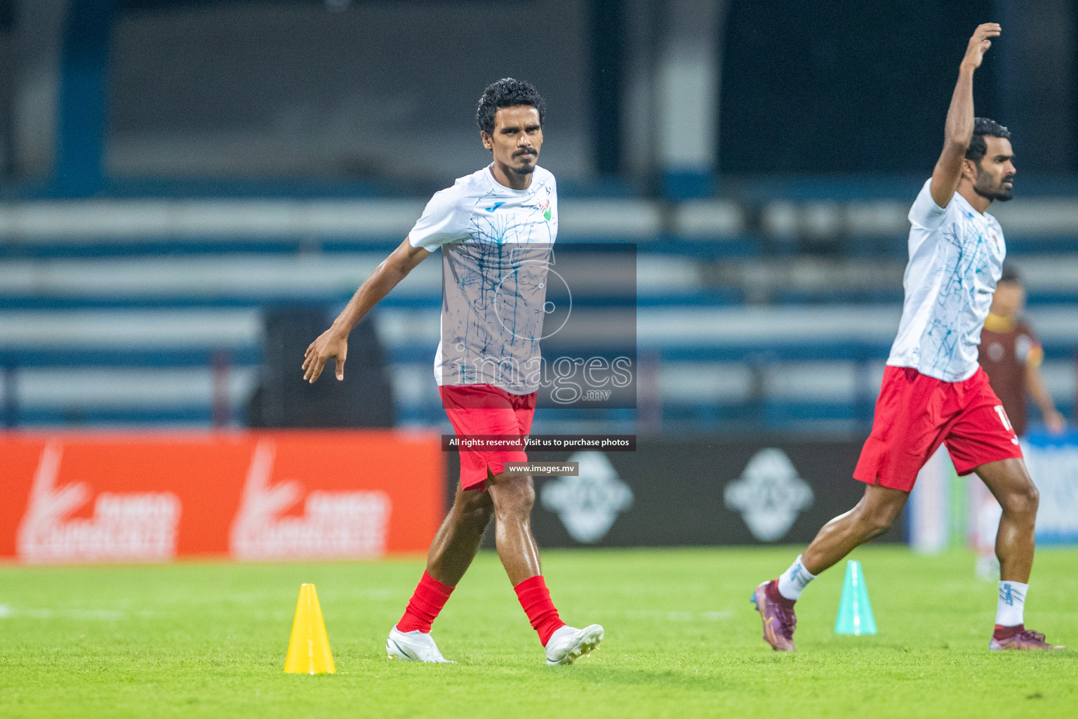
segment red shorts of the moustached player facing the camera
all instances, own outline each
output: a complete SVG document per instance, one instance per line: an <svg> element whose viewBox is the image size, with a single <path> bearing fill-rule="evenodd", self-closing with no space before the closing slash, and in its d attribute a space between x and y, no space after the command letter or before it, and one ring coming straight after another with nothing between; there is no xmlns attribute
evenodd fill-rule
<svg viewBox="0 0 1078 719"><path fill-rule="evenodd" d="M439 387L442 406L457 437L502 434L524 437L531 431L536 393L511 395L494 385ZM485 489L487 470L505 471L507 461L527 461L523 450L460 450L460 488Z"/></svg>

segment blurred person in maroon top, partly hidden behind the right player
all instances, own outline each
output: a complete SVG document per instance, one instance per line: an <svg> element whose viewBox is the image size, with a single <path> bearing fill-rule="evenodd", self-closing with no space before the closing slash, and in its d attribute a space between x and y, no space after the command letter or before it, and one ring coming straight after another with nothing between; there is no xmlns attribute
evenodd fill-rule
<svg viewBox="0 0 1078 719"><path fill-rule="evenodd" d="M1066 420L1055 409L1045 387L1040 365L1045 351L1033 328L1025 320L1025 288L1012 262L1004 263L1004 274L996 284L992 308L981 331L979 361L989 374L989 384L999 398L1014 433L1025 435L1026 395L1040 409L1045 428L1053 433L1066 429ZM971 529L977 549L977 575L984 579L998 576L995 555L996 527L1003 509L987 487L970 483Z"/></svg>

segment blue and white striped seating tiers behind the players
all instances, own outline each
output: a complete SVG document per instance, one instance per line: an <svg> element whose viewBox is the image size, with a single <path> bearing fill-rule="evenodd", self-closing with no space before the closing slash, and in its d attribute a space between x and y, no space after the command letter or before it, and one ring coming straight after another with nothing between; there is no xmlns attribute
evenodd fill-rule
<svg viewBox="0 0 1078 719"><path fill-rule="evenodd" d="M264 357L264 310L341 306L423 202L5 205L5 423L240 424ZM637 244L639 411L655 418L645 430L845 431L870 420L900 310L902 201L570 197L561 209L559 241ZM1027 278L1049 389L1070 411L1075 201L994 209ZM430 378L440 281L437 262L420 265L377 318L401 426L443 421ZM611 427L626 418L605 417ZM573 416L540 413L537 421L571 427Z"/></svg>

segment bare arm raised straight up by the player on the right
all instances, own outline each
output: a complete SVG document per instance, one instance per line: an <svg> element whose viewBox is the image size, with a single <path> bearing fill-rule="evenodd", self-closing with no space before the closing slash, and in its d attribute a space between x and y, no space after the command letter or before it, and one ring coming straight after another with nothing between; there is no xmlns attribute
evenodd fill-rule
<svg viewBox="0 0 1078 719"><path fill-rule="evenodd" d="M951 96L951 108L946 112L943 137L943 152L932 170L932 201L946 207L958 190L962 180L962 161L973 137L973 71L981 67L984 53L992 46L990 38L998 38L1001 28L997 23L979 25L966 45L966 55L958 66L958 82Z"/></svg>

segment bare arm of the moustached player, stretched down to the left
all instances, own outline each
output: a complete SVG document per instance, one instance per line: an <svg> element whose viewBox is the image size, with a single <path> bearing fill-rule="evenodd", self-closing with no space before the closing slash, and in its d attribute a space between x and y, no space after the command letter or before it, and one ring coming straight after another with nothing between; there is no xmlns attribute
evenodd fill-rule
<svg viewBox="0 0 1078 719"><path fill-rule="evenodd" d="M318 338L307 347L303 357L303 378L314 383L322 373L326 362L332 357L336 364L337 379L344 379L344 360L348 356L348 334L351 328L363 319L371 307L407 277L416 265L427 259L428 254L430 252L421 247L412 247L405 237L400 247L383 260L371 276L359 286L347 306L333 320L332 327L318 335Z"/></svg>

